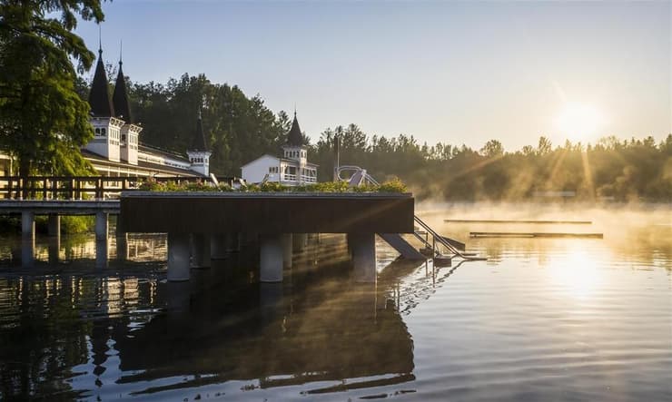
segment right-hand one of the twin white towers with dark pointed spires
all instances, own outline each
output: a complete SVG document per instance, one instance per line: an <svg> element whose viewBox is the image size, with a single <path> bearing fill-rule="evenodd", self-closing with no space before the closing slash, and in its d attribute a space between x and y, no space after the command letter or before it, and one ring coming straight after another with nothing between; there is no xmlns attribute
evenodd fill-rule
<svg viewBox="0 0 672 402"><path fill-rule="evenodd" d="M124 121L124 125L121 128L121 140L119 142L121 160L136 165L138 164L138 140L143 128L133 122L122 64L124 63L120 54L119 73L116 76L116 83L114 83L112 103L114 106L114 116Z"/></svg>

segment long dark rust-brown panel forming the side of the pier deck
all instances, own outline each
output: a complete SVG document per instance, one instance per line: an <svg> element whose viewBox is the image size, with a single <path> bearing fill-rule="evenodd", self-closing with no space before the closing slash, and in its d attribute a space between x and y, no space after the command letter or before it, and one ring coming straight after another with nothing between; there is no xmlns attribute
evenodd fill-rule
<svg viewBox="0 0 672 402"><path fill-rule="evenodd" d="M411 194L123 193L129 232L411 233Z"/></svg>

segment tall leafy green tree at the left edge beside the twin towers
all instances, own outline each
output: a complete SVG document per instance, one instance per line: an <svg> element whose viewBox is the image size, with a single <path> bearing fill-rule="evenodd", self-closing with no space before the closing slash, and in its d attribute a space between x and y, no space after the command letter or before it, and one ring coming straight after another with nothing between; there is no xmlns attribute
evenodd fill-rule
<svg viewBox="0 0 672 402"><path fill-rule="evenodd" d="M76 74L94 62L73 33L77 19L103 21L99 0L0 3L0 150L19 174L73 174L90 169L79 148L93 138L89 105Z"/></svg>

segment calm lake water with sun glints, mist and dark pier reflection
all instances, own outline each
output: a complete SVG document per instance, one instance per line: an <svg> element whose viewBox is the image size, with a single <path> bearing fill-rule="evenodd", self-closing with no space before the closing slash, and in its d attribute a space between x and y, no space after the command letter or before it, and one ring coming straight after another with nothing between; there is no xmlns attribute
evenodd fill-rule
<svg viewBox="0 0 672 402"><path fill-rule="evenodd" d="M357 284L345 241L322 236L282 284L257 282L252 247L175 284L162 236L133 236L126 260L112 238L98 268L91 237L38 238L31 268L2 238L0 399L672 399L669 208L531 217L594 220L580 227L441 223L501 217L474 206L424 216L489 260L393 262L379 242L377 285Z"/></svg>

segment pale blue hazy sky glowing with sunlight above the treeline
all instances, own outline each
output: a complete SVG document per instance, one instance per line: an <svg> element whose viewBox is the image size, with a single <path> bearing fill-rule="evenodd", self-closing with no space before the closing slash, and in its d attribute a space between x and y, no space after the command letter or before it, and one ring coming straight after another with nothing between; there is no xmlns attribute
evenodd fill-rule
<svg viewBox="0 0 672 402"><path fill-rule="evenodd" d="M547 135L594 141L672 132L670 2L104 3L104 59L124 73L183 73L297 105L327 127L507 150ZM92 50L98 29L78 34ZM564 132L563 132L564 131ZM571 131L571 132L568 132Z"/></svg>

